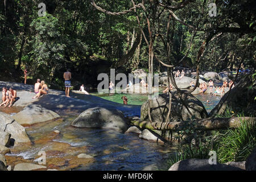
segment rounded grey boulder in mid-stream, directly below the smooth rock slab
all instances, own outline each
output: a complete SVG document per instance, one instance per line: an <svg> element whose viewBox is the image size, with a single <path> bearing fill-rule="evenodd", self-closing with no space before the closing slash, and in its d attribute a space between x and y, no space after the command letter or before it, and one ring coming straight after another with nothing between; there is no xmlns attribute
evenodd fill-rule
<svg viewBox="0 0 256 182"><path fill-rule="evenodd" d="M129 128L121 111L103 107L93 107L85 110L72 122L72 126L107 128L123 132Z"/></svg>

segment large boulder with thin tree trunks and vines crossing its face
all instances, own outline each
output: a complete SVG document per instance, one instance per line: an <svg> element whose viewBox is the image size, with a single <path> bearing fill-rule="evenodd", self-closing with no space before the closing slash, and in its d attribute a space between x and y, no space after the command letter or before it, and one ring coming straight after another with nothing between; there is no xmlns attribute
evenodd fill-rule
<svg viewBox="0 0 256 182"><path fill-rule="evenodd" d="M192 94L183 94L181 97L183 102L188 105L192 115L196 118L207 118L207 110L204 105ZM185 121L191 118L188 110L180 101L177 92L172 92L172 105L171 105L171 121ZM163 122L166 120L168 107L169 107L169 94L160 94L152 99L151 118L153 122ZM148 121L148 109L149 101L144 102L141 107L141 119Z"/></svg>

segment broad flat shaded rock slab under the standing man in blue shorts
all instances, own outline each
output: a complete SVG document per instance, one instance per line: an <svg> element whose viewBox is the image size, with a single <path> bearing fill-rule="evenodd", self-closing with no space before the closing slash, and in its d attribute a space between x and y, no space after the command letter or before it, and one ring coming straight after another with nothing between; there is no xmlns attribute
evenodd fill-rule
<svg viewBox="0 0 256 182"><path fill-rule="evenodd" d="M49 93L47 95L32 99L32 97L35 96L34 85L0 81L0 88L3 86L7 86L8 88L13 87L17 90L19 99L15 102L14 106L26 107L29 104L35 104L60 114L67 114L67 110L72 110L73 113L78 114L92 107L106 107L109 109L121 110L125 114L133 113L133 115L140 115L141 106L139 105L119 104L97 96L71 92L71 97L68 98L65 97L65 92L63 91L49 89ZM0 92L0 95L2 95L2 92Z"/></svg>

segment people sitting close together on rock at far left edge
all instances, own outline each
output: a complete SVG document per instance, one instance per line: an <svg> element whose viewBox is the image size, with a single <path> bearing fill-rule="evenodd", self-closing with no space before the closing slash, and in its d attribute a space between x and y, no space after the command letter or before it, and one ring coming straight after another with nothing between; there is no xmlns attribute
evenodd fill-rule
<svg viewBox="0 0 256 182"><path fill-rule="evenodd" d="M16 90L14 90L13 88L9 88L9 90L7 90L6 87L3 87L2 90L2 103L0 104L1 106L5 106L7 107L11 107L13 106L14 102L16 101L16 97L17 97L17 92Z"/></svg>

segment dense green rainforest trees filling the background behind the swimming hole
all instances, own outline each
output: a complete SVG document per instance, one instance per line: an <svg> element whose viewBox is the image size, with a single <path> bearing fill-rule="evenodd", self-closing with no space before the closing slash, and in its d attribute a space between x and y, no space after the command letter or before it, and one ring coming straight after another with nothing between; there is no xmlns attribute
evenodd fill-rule
<svg viewBox="0 0 256 182"><path fill-rule="evenodd" d="M117 68L117 62L126 55L140 34L134 13L107 15L96 10L89 0L57 1L46 0L46 16L38 16L35 0L10 0L0 2L0 72L2 79L20 81L22 70L28 69L28 82L40 77L51 87L63 86L63 72L71 68L73 78L86 84L95 84L97 74ZM139 0L134 1L137 5ZM184 1L159 1L176 6ZM166 35L168 11L158 1L145 1L145 7L154 23L152 32L155 53L168 63L164 43L159 34ZM130 0L98 0L97 5L108 11L128 10ZM208 15L208 2L191 1L183 8L174 9L175 15L185 23L198 27L191 51L185 57L185 67L195 67L197 52L210 35L217 35L203 54L201 70L222 71L238 67L246 45L245 68L255 68L255 1L216 1L217 16ZM204 10L204 11L202 11ZM159 15L152 18L156 11ZM141 26L148 38L145 12L137 9ZM156 23L157 22L157 23ZM185 55L193 31L184 24L171 19L171 57L176 63ZM166 41L166 38L164 38ZM148 46L144 39L139 40L136 51L119 69L130 72L132 69L148 68ZM106 67L102 69L101 67ZM164 68L154 61L155 71Z"/></svg>

